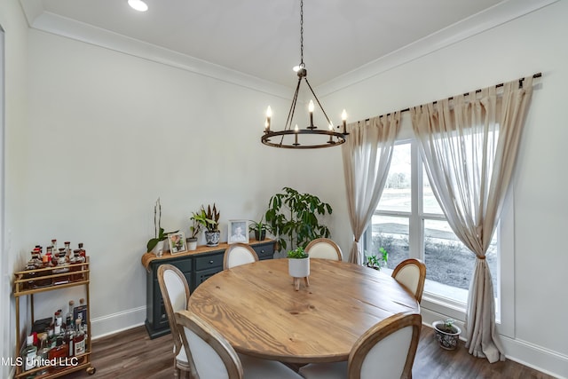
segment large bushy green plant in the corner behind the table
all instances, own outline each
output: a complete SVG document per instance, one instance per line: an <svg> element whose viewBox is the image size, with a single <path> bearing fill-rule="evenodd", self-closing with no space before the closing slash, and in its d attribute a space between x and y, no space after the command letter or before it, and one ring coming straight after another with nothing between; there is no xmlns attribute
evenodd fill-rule
<svg viewBox="0 0 568 379"><path fill-rule="evenodd" d="M271 197L264 215L271 233L276 236L276 250L286 250L288 242L290 248L305 248L316 238L329 238L331 233L318 216L331 214L331 206L310 193L299 193L289 187L282 190L284 193Z"/></svg>

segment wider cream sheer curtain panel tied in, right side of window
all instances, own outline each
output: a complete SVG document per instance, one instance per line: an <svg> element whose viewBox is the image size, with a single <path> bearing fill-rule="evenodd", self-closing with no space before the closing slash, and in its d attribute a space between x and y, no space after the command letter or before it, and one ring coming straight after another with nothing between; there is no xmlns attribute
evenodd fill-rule
<svg viewBox="0 0 568 379"><path fill-rule="evenodd" d="M485 252L512 177L533 77L410 109L430 185L448 223L477 256L469 284L469 353L504 360Z"/></svg>

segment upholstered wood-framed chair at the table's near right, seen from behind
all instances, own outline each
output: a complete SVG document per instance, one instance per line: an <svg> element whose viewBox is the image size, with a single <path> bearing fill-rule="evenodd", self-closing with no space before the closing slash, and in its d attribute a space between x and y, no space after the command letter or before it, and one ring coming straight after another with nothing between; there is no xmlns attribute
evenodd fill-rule
<svg viewBox="0 0 568 379"><path fill-rule="evenodd" d="M305 379L412 378L422 316L397 313L360 336L347 362L312 363L300 368Z"/></svg>

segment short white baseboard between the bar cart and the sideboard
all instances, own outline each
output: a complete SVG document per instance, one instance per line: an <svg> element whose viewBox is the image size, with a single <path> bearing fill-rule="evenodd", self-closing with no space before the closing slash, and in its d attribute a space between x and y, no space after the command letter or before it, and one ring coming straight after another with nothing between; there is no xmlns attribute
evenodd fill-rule
<svg viewBox="0 0 568 379"><path fill-rule="evenodd" d="M91 338L97 340L130 328L144 325L146 305L91 319Z"/></svg>

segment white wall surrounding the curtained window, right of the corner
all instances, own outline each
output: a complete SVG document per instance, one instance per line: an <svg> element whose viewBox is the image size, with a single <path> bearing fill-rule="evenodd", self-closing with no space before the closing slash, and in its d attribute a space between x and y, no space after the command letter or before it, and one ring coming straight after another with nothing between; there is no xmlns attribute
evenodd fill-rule
<svg viewBox="0 0 568 379"><path fill-rule="evenodd" d="M568 377L566 16L568 2L560 1L325 99L330 107L347 107L352 120L360 120L542 72L517 161L514 266L505 268L515 278L514 309L506 310L514 315L513 337L502 340L512 359L564 377Z"/></svg>

